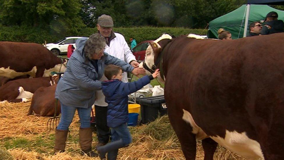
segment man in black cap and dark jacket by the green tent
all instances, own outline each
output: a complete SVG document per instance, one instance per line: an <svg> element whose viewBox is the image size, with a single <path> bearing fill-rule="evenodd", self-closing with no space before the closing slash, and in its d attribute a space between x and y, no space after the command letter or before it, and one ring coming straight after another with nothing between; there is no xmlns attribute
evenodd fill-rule
<svg viewBox="0 0 284 160"><path fill-rule="evenodd" d="M278 14L274 11L266 15L262 25L261 35L284 32L284 22L283 20L278 20Z"/></svg>

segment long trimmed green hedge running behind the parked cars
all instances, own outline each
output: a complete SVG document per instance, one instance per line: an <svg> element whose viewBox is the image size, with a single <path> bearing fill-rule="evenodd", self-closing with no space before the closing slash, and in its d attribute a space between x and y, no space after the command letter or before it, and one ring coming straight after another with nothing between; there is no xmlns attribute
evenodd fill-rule
<svg viewBox="0 0 284 160"><path fill-rule="evenodd" d="M113 31L121 33L125 36L127 43L130 43L129 38L136 39L137 43L146 40L155 40L163 33L168 33L174 36L182 34L199 34L206 35L207 30L204 29L188 29L188 28L171 28L171 27L132 27L132 28L113 28ZM97 28L83 28L78 33L72 35L57 34L49 29L30 28L25 26L5 27L0 25L0 41L14 42L33 42L33 43L52 43L67 36L90 36L97 33Z"/></svg>

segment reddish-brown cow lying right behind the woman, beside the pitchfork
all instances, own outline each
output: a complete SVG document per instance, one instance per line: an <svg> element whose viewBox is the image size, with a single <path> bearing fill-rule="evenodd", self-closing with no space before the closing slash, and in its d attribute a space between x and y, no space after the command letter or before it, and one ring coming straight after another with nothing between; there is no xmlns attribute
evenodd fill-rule
<svg viewBox="0 0 284 160"><path fill-rule="evenodd" d="M54 116L55 111L55 89L56 84L58 83L59 78L62 76L55 74L51 78L52 86L49 87L40 87L33 94L31 100L31 106L28 112L28 115L35 114L39 116ZM61 112L61 106L59 100L57 102L56 116Z"/></svg>

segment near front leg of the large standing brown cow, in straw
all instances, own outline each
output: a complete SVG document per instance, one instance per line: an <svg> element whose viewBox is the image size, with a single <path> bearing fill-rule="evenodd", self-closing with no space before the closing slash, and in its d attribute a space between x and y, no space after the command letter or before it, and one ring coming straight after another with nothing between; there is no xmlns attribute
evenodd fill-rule
<svg viewBox="0 0 284 160"><path fill-rule="evenodd" d="M168 116L180 141L185 159L194 160L196 157L196 136L191 132L190 124L182 119L182 112L178 114L175 110L168 110Z"/></svg>

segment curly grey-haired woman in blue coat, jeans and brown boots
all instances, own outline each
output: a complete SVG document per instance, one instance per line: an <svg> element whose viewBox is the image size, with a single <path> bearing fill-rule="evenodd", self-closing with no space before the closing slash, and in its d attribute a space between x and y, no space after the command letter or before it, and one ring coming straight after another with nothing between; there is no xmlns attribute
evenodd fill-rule
<svg viewBox="0 0 284 160"><path fill-rule="evenodd" d="M100 34L78 39L76 47L56 87L55 98L60 100L61 119L55 130L54 150L64 152L68 128L77 110L81 122L79 129L81 153L97 157L98 154L91 150L90 112L95 102L95 91L102 89L99 79L104 74L104 66L118 65L134 75L142 74L145 70L134 68L125 61L105 53L105 39Z"/></svg>

